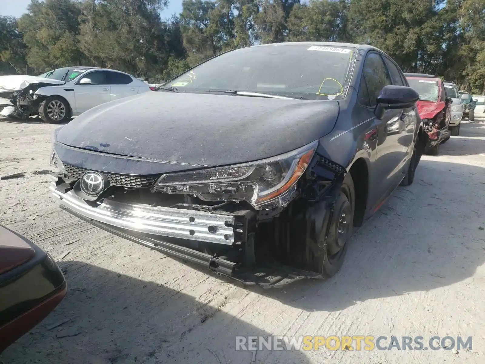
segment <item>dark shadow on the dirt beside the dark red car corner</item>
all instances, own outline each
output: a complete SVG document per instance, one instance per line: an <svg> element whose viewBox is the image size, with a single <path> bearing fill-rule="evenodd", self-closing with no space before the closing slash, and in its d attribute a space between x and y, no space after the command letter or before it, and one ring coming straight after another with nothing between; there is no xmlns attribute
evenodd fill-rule
<svg viewBox="0 0 485 364"><path fill-rule="evenodd" d="M270 335L223 312L212 299L203 303L162 284L83 262L59 265L66 272L67 296L8 347L0 362L246 364L252 352L235 350L236 335ZM265 361L268 354L258 351L258 363L310 363L301 351L273 352Z"/></svg>

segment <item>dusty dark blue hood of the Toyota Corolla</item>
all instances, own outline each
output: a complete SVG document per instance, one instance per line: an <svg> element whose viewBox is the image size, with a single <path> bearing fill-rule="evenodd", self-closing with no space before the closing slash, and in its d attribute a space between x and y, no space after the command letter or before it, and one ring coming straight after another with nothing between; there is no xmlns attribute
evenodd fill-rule
<svg viewBox="0 0 485 364"><path fill-rule="evenodd" d="M56 140L192 168L230 165L317 140L332 131L338 113L338 101L147 92L88 110L65 125Z"/></svg>

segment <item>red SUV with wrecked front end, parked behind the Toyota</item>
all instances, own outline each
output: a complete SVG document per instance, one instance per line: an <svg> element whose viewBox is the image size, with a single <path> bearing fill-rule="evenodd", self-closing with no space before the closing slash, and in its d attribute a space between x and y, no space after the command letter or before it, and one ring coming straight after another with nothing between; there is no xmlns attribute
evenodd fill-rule
<svg viewBox="0 0 485 364"><path fill-rule="evenodd" d="M443 81L425 73L404 73L409 86L420 94L416 103L429 139L424 152L437 155L439 145L450 139L452 99L446 97Z"/></svg>

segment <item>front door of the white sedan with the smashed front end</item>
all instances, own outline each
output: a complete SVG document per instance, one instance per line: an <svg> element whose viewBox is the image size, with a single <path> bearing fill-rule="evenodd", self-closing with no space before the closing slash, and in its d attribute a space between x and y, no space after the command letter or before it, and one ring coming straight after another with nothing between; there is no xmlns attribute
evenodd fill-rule
<svg viewBox="0 0 485 364"><path fill-rule="evenodd" d="M90 84L81 84L83 78L91 80ZM111 101L111 89L108 84L107 71L91 71L84 73L74 84L76 99L76 114L83 113L97 105Z"/></svg>

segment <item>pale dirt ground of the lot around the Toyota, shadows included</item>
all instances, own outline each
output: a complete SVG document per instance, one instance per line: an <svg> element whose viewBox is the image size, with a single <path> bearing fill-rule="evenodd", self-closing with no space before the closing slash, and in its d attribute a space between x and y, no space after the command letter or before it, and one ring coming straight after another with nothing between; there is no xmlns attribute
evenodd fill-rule
<svg viewBox="0 0 485 364"><path fill-rule="evenodd" d="M481 123L480 123L481 121ZM47 250L68 294L5 364L485 363L485 117L423 156L329 281L242 287L103 232L48 194L55 125L0 120L0 223ZM67 253L65 255L65 253ZM64 258L63 258L64 256ZM60 324L53 328L53 326ZM236 335L472 336L471 350L236 351Z"/></svg>

